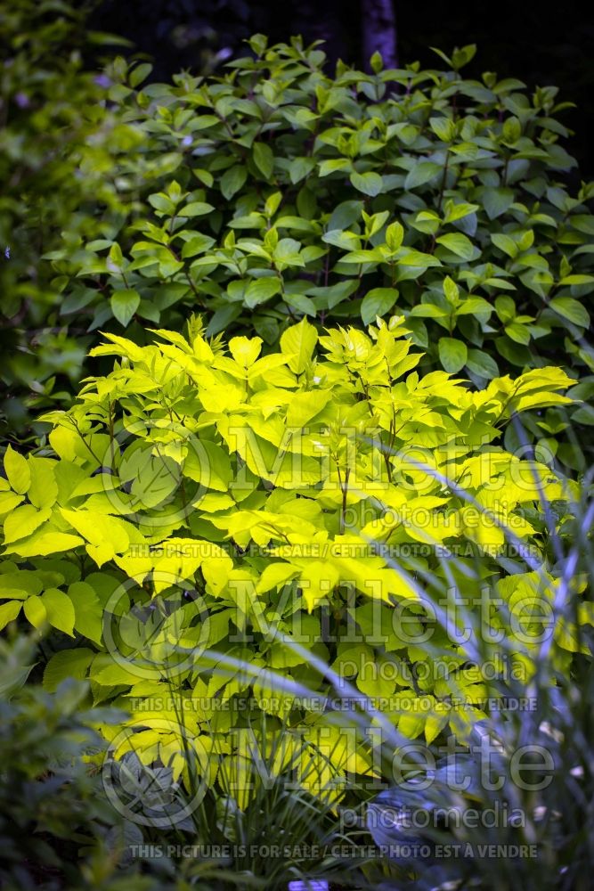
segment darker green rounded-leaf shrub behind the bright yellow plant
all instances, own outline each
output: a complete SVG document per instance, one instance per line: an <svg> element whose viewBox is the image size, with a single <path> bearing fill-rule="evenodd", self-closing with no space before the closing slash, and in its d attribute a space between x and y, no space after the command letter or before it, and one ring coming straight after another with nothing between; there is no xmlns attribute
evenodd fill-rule
<svg viewBox="0 0 594 891"><path fill-rule="evenodd" d="M470 46L440 53L441 70L375 56L370 74L339 63L334 76L319 45L249 46L223 77L172 84L110 64L96 132L65 150L68 182L102 187L45 236L37 315L145 343L147 323L180 331L198 308L209 335L275 347L303 315L361 326L396 311L424 368L478 385L592 370L592 185L567 190L554 87L464 78ZM541 422L528 435L554 453L564 421ZM560 457L579 462L566 444Z"/></svg>

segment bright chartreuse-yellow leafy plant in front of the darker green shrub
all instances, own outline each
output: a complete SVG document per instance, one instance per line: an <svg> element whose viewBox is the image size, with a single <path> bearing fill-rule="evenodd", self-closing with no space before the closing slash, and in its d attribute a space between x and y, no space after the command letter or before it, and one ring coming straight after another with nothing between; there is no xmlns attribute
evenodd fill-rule
<svg viewBox="0 0 594 891"><path fill-rule="evenodd" d="M475 390L419 375L399 316L322 337L304 319L268 356L257 337L224 347L197 323L187 339L154 333L146 347L117 335L96 347L116 364L46 416L53 453L5 455L0 621L61 633L45 686L89 678L95 701L130 707L141 729L118 754L173 759L176 772L182 715L199 770L240 806L241 731L258 711L272 738L276 722L305 740L305 787L374 771L336 715L296 698L290 682L331 689L315 658L405 737L430 741L450 723L463 738L489 679L432 603L455 589L472 612L494 587L493 658L509 650L532 674L558 587L539 503L561 523L574 484L498 441L510 416L566 404L572 380L549 367ZM530 556L502 554L509 536ZM452 568L441 546L456 549ZM427 628L432 642L419 643ZM569 665L575 631L555 627L556 666ZM240 667L220 671L231 658ZM457 703L460 689L476 707Z"/></svg>

